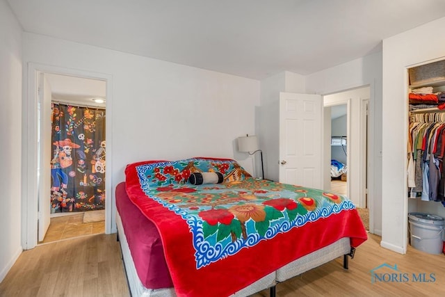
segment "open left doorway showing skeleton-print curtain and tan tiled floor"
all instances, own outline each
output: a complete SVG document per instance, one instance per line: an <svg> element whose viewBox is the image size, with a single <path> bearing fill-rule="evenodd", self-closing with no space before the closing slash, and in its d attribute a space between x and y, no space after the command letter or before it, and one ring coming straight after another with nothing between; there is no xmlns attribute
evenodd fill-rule
<svg viewBox="0 0 445 297"><path fill-rule="evenodd" d="M104 233L106 81L38 80L38 243Z"/></svg>

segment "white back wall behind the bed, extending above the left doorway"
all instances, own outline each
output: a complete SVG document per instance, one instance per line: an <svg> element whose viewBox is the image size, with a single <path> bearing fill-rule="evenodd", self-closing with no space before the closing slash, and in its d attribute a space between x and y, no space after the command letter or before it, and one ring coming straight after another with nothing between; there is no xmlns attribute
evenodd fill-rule
<svg viewBox="0 0 445 297"><path fill-rule="evenodd" d="M32 62L112 77L112 99L107 94L107 115L108 109L112 111L107 119L107 168L111 162L113 190L107 193L107 202L113 205L113 220L113 192L124 180L127 163L192 156L247 159L236 152L235 140L254 134L259 81L33 33L24 33L23 41L24 65ZM108 134L113 136L111 143Z"/></svg>

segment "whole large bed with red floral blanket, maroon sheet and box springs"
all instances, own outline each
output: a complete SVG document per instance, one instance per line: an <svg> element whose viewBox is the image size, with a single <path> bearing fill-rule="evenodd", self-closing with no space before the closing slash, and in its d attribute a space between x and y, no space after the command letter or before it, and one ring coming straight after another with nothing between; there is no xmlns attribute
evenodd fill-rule
<svg viewBox="0 0 445 297"><path fill-rule="evenodd" d="M276 282L366 240L350 200L253 179L231 159L145 161L125 171L116 221L132 296L248 296L267 288L273 295ZM196 176L203 184L191 184Z"/></svg>

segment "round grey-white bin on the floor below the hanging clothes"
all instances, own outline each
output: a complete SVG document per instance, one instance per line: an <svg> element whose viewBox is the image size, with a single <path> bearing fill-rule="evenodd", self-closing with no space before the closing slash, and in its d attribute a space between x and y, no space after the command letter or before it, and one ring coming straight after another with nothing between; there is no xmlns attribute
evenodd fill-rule
<svg viewBox="0 0 445 297"><path fill-rule="evenodd" d="M441 254L444 248L445 219L434 214L408 214L411 246L429 254Z"/></svg>

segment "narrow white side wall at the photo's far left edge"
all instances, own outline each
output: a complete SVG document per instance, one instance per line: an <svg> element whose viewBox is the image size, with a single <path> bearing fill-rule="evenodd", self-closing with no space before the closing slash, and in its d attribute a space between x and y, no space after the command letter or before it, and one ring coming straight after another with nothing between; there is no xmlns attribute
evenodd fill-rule
<svg viewBox="0 0 445 297"><path fill-rule="evenodd" d="M22 252L22 28L0 0L0 282Z"/></svg>

